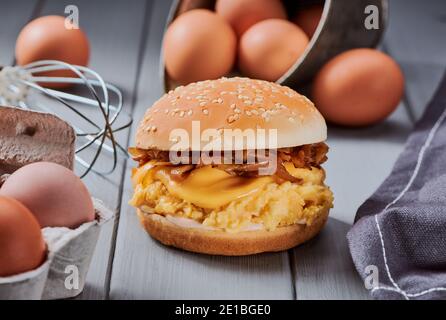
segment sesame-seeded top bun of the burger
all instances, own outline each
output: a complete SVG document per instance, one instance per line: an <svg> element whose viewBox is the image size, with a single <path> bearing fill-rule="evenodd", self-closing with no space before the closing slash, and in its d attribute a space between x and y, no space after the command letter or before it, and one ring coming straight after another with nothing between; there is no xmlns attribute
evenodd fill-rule
<svg viewBox="0 0 446 320"><path fill-rule="evenodd" d="M217 129L220 134L222 129L275 129L277 143L271 148L318 143L327 137L324 118L305 96L267 81L222 78L192 83L165 94L144 115L136 147L170 150L178 142L171 136L172 131L184 129L192 136L193 121L199 121L201 133L206 129ZM203 150L208 143L192 144L190 149ZM228 145L223 139L221 146L222 150L260 148L259 141L251 138L243 139L243 145L238 146Z"/></svg>

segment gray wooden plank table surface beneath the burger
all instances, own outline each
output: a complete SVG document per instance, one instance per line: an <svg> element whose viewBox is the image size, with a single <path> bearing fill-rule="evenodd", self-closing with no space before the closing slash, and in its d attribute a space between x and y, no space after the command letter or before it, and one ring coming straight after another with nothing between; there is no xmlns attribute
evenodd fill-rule
<svg viewBox="0 0 446 320"><path fill-rule="evenodd" d="M352 0L353 1L353 0ZM2 0L0 64L14 61L17 34L27 21L80 10L92 44L90 66L124 92L136 120L118 137L133 143L137 121L163 91L159 55L170 1ZM319 237L288 252L211 257L166 248L140 228L127 202L132 161L85 181L116 212L103 230L81 299L367 299L345 235L359 205L390 172L413 123L420 117L446 66L444 0L390 0L390 26L382 48L404 69L403 102L384 123L366 129L329 128L326 165L335 207ZM45 103L51 103L45 101Z"/></svg>

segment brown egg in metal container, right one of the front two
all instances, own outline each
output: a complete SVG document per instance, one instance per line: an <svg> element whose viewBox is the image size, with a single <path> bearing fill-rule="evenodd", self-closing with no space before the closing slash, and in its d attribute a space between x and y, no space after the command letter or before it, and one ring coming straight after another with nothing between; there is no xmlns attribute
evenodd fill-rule
<svg viewBox="0 0 446 320"><path fill-rule="evenodd" d="M239 46L239 67L248 77L276 81L299 59L307 35L280 19L259 22L246 31Z"/></svg>

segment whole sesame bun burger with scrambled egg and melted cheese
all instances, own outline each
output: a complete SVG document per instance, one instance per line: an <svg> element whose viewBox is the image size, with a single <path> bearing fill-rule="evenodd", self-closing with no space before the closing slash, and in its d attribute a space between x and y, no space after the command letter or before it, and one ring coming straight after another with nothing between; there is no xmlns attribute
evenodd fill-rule
<svg viewBox="0 0 446 320"><path fill-rule="evenodd" d="M178 87L139 125L130 204L165 245L229 256L292 248L319 233L333 204L326 136L313 103L288 87Z"/></svg>

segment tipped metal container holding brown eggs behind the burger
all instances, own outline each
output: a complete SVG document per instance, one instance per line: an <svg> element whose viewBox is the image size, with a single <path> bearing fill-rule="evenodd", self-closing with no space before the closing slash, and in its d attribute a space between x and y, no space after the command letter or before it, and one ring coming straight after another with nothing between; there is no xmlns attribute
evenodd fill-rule
<svg viewBox="0 0 446 320"><path fill-rule="evenodd" d="M213 9L215 0L174 0L167 27L180 14L197 8ZM292 17L300 7L324 3L319 25L303 55L276 82L292 88L307 84L316 72L334 56L354 48L374 48L378 45L387 25L388 0L325 0L283 1L288 16ZM378 29L367 29L365 19L367 6L376 6L379 12ZM234 71L234 74L238 74ZM165 91L177 86L171 81L164 67L161 54L161 79Z"/></svg>

